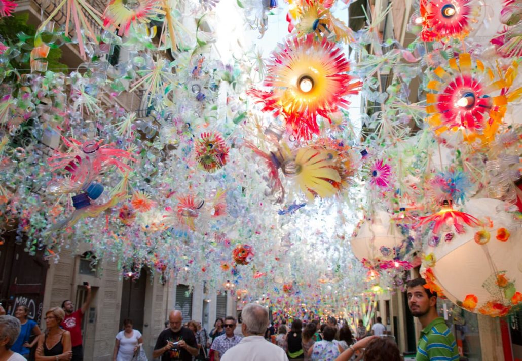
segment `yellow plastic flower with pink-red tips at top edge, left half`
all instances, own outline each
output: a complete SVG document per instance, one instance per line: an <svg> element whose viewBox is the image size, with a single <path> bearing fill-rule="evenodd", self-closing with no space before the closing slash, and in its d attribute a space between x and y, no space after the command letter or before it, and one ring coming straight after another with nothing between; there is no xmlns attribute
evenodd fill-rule
<svg viewBox="0 0 522 361"><path fill-rule="evenodd" d="M118 35L127 37L131 25L149 23L159 14L165 15L165 11L156 0L111 0L103 12L103 26L112 31L118 29Z"/></svg>

